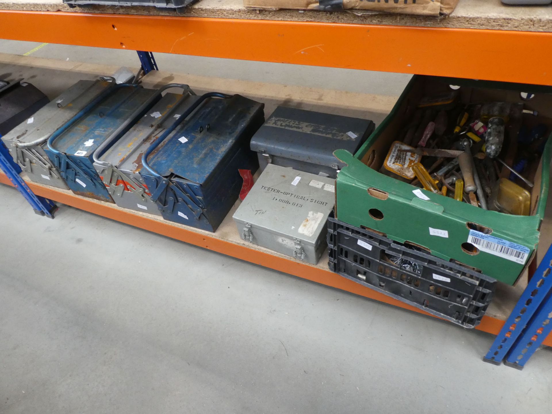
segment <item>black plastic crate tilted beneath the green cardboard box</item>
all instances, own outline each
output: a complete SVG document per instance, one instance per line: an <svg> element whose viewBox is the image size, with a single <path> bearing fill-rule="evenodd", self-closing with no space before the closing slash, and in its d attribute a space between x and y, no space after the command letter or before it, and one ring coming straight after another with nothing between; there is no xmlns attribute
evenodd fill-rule
<svg viewBox="0 0 552 414"><path fill-rule="evenodd" d="M333 272L466 328L479 325L496 279L328 217Z"/></svg>

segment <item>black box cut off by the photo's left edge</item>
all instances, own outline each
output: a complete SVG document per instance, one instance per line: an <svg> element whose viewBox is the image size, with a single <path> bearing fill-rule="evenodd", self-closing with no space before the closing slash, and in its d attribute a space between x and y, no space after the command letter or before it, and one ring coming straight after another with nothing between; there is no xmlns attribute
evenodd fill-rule
<svg viewBox="0 0 552 414"><path fill-rule="evenodd" d="M48 102L50 99L44 93L22 79L0 81L0 136L29 119Z"/></svg>

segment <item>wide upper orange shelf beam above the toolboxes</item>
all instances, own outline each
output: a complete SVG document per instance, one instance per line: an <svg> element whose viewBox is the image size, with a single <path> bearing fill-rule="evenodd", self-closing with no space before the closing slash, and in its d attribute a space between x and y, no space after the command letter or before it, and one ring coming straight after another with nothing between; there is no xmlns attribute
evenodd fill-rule
<svg viewBox="0 0 552 414"><path fill-rule="evenodd" d="M552 33L0 10L0 37L552 86Z"/></svg>

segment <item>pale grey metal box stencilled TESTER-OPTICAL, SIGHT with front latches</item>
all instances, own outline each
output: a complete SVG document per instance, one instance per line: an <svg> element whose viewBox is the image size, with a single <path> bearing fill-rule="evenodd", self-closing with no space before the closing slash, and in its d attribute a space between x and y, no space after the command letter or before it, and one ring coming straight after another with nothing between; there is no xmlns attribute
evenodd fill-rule
<svg viewBox="0 0 552 414"><path fill-rule="evenodd" d="M268 164L232 216L243 240L316 264L326 250L331 178Z"/></svg>

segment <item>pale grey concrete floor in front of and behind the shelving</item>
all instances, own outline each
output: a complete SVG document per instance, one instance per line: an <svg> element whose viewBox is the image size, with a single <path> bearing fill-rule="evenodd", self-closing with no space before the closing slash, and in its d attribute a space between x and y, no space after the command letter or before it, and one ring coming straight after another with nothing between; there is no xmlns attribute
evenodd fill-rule
<svg viewBox="0 0 552 414"><path fill-rule="evenodd" d="M128 51L50 46L35 53L136 65ZM229 71L164 59L168 70ZM291 78L293 67L248 65L232 75L317 81L305 68ZM350 72L339 72L343 89L391 95L407 79ZM496 367L481 361L486 333L67 206L52 221L4 185L0 263L0 413L549 411L548 348L523 371Z"/></svg>

